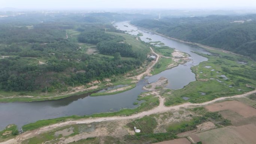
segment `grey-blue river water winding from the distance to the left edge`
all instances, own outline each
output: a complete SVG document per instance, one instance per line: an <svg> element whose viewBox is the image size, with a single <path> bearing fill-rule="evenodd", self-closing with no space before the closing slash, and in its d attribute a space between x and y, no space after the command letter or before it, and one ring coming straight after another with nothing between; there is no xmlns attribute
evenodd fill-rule
<svg viewBox="0 0 256 144"><path fill-rule="evenodd" d="M165 43L166 46L186 52L191 56L192 60L154 76L146 77L140 80L135 88L120 94L89 96L92 93L88 93L51 101L0 103L0 129L4 129L5 126L9 124L16 124L21 128L22 125L41 119L53 119L71 115L83 116L94 113L118 111L121 108L135 108L137 106L133 105L133 102L138 102L138 95L141 92L145 92L142 88L147 84L146 80L152 83L160 77L166 77L169 80L167 88L174 90L181 89L190 82L195 81L195 74L192 73L190 68L193 65L198 65L202 61L207 61L207 58L193 52L210 54L196 46L176 42L150 33L149 31L141 30L140 28L130 25L128 21L117 22L114 25L120 30L128 31L129 34L137 35L138 33L142 33L143 36L141 36L140 39L145 42L149 42L146 38L150 38L152 42L161 41Z"/></svg>

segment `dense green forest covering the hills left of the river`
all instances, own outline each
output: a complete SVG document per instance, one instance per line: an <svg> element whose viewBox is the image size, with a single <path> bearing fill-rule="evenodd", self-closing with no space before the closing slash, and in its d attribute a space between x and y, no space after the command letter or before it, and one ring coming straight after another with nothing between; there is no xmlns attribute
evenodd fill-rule
<svg viewBox="0 0 256 144"><path fill-rule="evenodd" d="M124 37L107 33L123 33L110 22L127 19L124 15L28 15L0 18L0 90L45 91L47 86L48 92L66 91L73 83L127 73L146 60L145 50L135 50ZM77 31L77 38L67 38L68 30ZM89 55L78 45L81 42L114 58Z"/></svg>

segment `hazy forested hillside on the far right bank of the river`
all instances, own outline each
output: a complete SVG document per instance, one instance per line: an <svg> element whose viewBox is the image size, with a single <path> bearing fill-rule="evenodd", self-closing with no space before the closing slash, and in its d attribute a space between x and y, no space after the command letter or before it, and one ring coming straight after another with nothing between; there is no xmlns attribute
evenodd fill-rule
<svg viewBox="0 0 256 144"><path fill-rule="evenodd" d="M237 23L234 21L245 21ZM250 56L256 60L256 14L243 16L142 19L131 22L139 27L188 42L202 43Z"/></svg>

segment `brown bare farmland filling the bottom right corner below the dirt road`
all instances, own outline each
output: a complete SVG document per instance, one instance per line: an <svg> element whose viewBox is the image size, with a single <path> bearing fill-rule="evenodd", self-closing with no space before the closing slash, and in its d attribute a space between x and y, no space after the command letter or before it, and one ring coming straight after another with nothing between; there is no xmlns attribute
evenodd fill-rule
<svg viewBox="0 0 256 144"><path fill-rule="evenodd" d="M241 98L246 99L246 98ZM232 126L211 129L196 134L205 144L255 144L256 109L240 101L225 101L206 106L209 111L219 111L225 119L231 120ZM256 103L246 99L247 103Z"/></svg>

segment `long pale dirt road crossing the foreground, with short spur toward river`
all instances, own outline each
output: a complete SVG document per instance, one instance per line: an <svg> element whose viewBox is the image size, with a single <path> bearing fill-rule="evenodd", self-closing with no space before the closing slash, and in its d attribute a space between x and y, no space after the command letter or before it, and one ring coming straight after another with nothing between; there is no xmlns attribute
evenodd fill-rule
<svg viewBox="0 0 256 144"><path fill-rule="evenodd" d="M55 128L58 128L58 127L61 127L61 126L73 125L73 124L86 124L86 123L92 123L92 122L113 121L113 120L137 119L137 118L147 116L147 115L150 115L150 114L164 113L164 112L170 111L170 110L179 110L182 107L191 108L191 107L194 107L194 106L204 106L204 105L208 105L208 104L211 104L213 102L220 101L220 100L245 97L245 96L256 93L256 90L247 92L247 93L242 94L242 95L216 98L212 101L207 101L207 102L203 102L203 103L200 103L200 104L192 104L190 102L186 102L184 104L175 105L175 106L171 106L171 107L166 107L164 105L164 100L165 99L162 98L158 94L158 92L153 91L151 93L155 94L156 96L159 97L159 106L155 107L151 110L143 111L141 113L137 113L137 114L134 114L134 115L131 115L131 116L100 117L100 118L90 118L90 119L81 119L81 120L70 120L70 121L67 121L67 122L56 123L56 124L53 124L53 125L44 126L42 128L39 128L39 129L36 129L36 130L33 130L33 131L24 132L23 134L18 135L16 138L10 139L8 141L1 142L0 144L19 144L23 140L26 140L28 138L32 138L36 135L42 134L43 132L47 132L47 131L50 131L52 129L55 129Z"/></svg>

